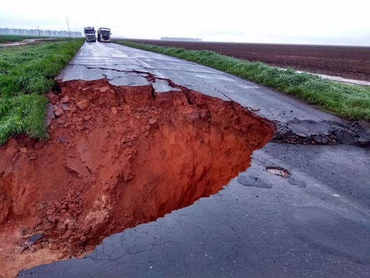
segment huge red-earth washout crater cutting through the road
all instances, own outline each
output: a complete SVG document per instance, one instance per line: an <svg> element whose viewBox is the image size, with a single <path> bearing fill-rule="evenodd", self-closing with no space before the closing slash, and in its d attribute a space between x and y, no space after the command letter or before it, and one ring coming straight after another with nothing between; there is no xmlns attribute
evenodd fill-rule
<svg viewBox="0 0 370 278"><path fill-rule="evenodd" d="M3 274L83 255L217 193L273 133L240 105L183 88L75 80L48 97L50 140L0 147Z"/></svg>

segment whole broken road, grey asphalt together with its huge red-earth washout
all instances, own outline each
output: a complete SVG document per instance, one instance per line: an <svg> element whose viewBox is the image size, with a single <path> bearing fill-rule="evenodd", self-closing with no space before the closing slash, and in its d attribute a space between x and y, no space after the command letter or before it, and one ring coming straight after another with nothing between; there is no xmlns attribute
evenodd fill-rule
<svg viewBox="0 0 370 278"><path fill-rule="evenodd" d="M367 146L366 130L251 84L85 43L48 94L50 140L19 136L0 147L2 275L92 249L19 275L364 274L370 214L343 195L347 184L364 195L351 174L366 180L367 151L348 145ZM347 145L329 146L337 144Z"/></svg>

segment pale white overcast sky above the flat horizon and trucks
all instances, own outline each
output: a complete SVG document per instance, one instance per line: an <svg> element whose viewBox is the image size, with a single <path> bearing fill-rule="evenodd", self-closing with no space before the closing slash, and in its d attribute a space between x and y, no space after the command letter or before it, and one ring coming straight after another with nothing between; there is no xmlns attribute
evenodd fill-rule
<svg viewBox="0 0 370 278"><path fill-rule="evenodd" d="M0 27L138 39L370 45L370 0L0 0Z"/></svg>

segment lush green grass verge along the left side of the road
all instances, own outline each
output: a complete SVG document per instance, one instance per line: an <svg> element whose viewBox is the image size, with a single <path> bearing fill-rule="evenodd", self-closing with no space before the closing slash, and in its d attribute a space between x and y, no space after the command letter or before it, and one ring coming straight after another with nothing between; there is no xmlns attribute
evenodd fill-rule
<svg viewBox="0 0 370 278"><path fill-rule="evenodd" d="M0 145L13 134L47 138L43 94L82 43L73 39L0 48Z"/></svg>

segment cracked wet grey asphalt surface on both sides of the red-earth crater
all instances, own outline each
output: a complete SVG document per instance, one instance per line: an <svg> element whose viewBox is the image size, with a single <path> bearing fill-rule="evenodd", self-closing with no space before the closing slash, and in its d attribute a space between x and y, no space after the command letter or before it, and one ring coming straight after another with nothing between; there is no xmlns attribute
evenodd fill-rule
<svg viewBox="0 0 370 278"><path fill-rule="evenodd" d="M259 116L277 122L348 124L248 80L113 43L85 43L59 79L147 84L139 72L258 107ZM152 85L171 90L164 80ZM267 166L291 176L271 174ZM370 277L369 169L369 148L270 142L219 193L105 238L85 258L19 276Z"/></svg>

